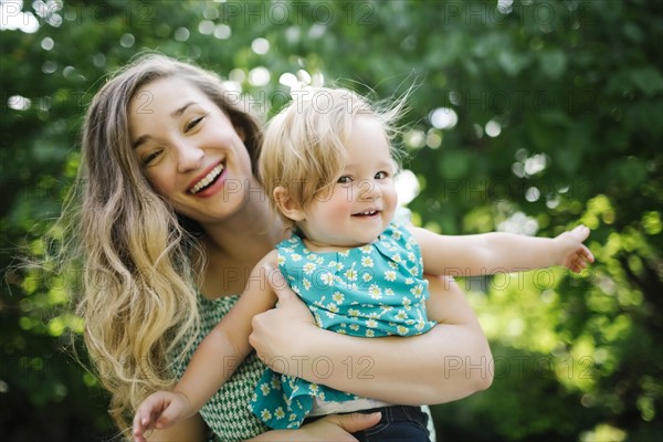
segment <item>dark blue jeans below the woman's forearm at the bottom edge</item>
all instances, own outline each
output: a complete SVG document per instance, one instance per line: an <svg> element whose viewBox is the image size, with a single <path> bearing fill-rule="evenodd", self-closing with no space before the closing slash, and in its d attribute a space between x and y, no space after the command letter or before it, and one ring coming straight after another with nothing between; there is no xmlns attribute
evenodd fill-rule
<svg viewBox="0 0 663 442"><path fill-rule="evenodd" d="M357 412L370 414L376 411L382 413L382 419L377 425L352 433L359 442L430 442L427 428L428 414L421 411L421 408L392 406ZM307 419L307 421L315 419Z"/></svg>

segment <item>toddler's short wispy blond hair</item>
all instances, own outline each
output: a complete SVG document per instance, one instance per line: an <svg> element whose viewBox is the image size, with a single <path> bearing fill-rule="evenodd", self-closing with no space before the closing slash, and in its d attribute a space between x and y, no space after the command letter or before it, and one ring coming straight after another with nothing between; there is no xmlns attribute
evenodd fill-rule
<svg viewBox="0 0 663 442"><path fill-rule="evenodd" d="M343 173L344 144L355 118L377 119L390 141L403 104L401 97L383 107L345 88L311 87L293 93L293 101L266 125L257 165L265 192L286 227L294 222L278 211L274 190L283 187L288 199L305 208ZM389 146L396 159L399 151L391 143Z"/></svg>

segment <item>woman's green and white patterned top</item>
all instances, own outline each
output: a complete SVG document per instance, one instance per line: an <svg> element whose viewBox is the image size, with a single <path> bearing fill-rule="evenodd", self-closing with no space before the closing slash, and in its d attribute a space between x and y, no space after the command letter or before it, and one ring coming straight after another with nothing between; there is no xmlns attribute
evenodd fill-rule
<svg viewBox="0 0 663 442"><path fill-rule="evenodd" d="M199 296L200 335L186 356L183 364L178 368L178 378L183 375L202 338L230 312L238 299L239 295L218 299ZM219 361L219 364L224 362ZM253 389L265 368L265 365L255 356L255 351L251 352L228 382L200 410L202 419L214 432L215 441L245 441L269 430L248 408ZM218 368L210 367L210 370Z"/></svg>

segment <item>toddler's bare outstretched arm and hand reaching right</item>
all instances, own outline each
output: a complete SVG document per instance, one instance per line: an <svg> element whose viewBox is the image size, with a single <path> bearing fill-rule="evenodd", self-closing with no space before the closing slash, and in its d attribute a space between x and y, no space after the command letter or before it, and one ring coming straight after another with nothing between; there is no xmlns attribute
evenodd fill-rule
<svg viewBox="0 0 663 442"><path fill-rule="evenodd" d="M533 238L492 232L440 235L411 228L423 257L424 273L433 275L492 275L564 265L580 272L593 255L582 244L589 229L579 225L556 238Z"/></svg>

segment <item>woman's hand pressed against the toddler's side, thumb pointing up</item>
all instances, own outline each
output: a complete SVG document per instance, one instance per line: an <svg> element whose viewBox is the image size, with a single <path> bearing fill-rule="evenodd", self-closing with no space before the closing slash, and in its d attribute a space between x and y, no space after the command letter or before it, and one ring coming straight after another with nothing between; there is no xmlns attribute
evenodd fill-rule
<svg viewBox="0 0 663 442"><path fill-rule="evenodd" d="M267 269L266 274L270 275L267 280L278 303L275 308L253 317L249 343L263 362L283 372L283 364L278 361L293 361L297 356L306 355L297 352L298 337L319 332L319 328L308 307L290 288L278 269Z"/></svg>

